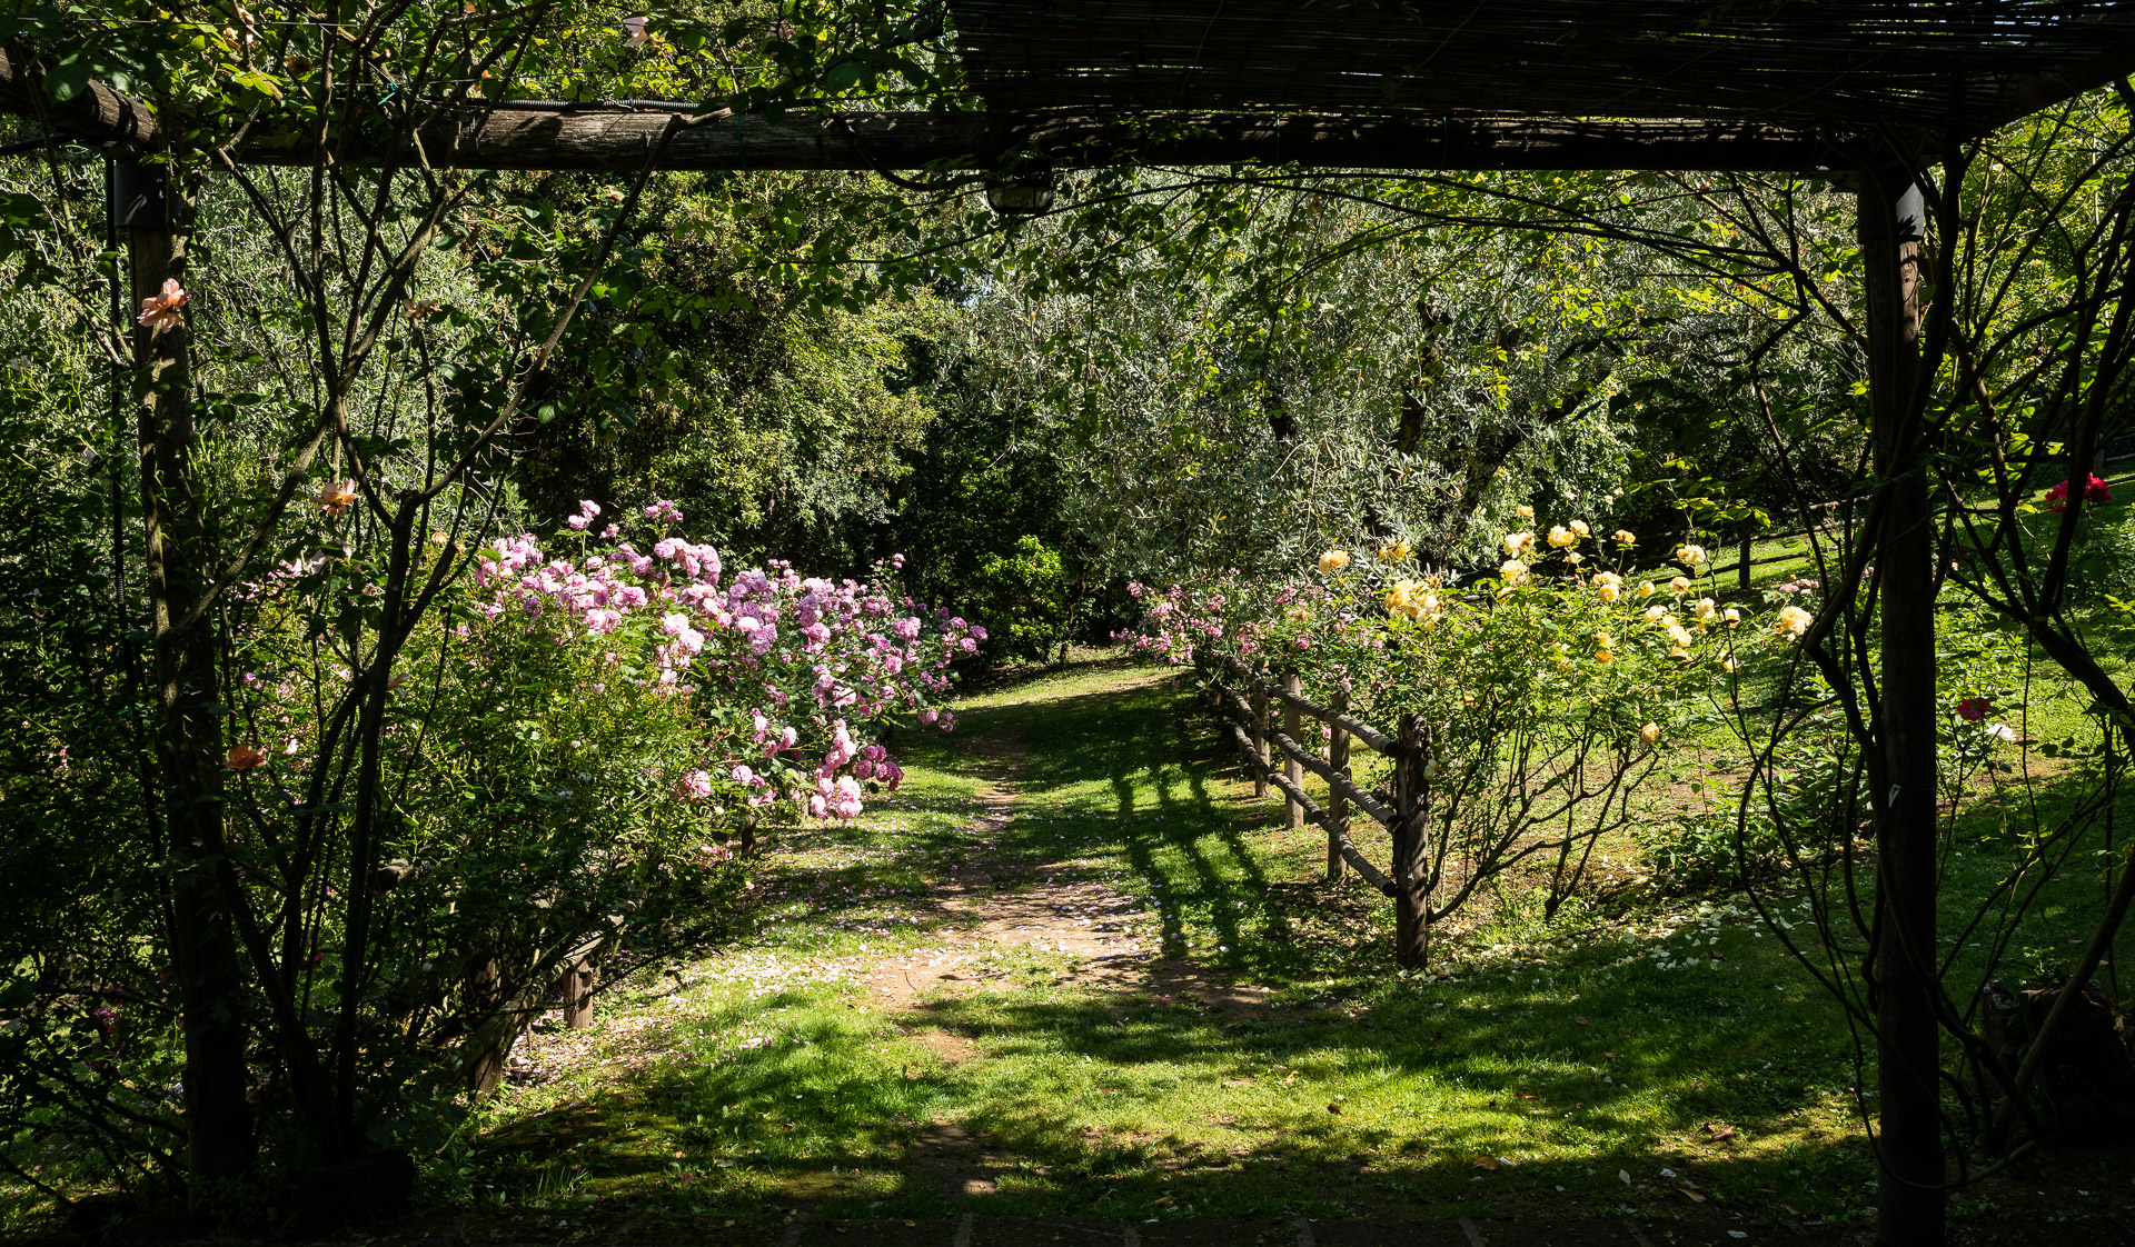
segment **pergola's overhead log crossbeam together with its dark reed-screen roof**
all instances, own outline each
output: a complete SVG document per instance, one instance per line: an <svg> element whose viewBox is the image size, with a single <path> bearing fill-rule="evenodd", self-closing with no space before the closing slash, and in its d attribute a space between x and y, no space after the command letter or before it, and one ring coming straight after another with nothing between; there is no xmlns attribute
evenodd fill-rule
<svg viewBox="0 0 2135 1247"><path fill-rule="evenodd" d="M2120 0L948 0L969 111L696 115L664 169L1038 160L1337 169L1804 173L1881 137L1932 154L2135 68ZM0 107L107 152L160 143L102 83L41 98L0 49ZM636 169L690 100L495 100L414 128L436 169ZM389 126L335 160L414 160ZM243 164L310 164L252 132Z"/></svg>

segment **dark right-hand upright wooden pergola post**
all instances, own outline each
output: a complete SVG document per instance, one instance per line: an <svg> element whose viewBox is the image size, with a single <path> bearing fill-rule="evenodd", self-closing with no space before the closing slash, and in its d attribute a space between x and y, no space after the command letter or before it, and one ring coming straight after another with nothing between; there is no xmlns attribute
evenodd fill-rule
<svg viewBox="0 0 2135 1247"><path fill-rule="evenodd" d="M1881 737L1877 811L1877 1241L1943 1241L1941 1027L1936 993L1934 771L1934 515L1926 438L1913 386L1919 372L1919 186L1902 171L1862 175L1860 222L1868 421L1883 523L1875 534L1881 613Z"/></svg>

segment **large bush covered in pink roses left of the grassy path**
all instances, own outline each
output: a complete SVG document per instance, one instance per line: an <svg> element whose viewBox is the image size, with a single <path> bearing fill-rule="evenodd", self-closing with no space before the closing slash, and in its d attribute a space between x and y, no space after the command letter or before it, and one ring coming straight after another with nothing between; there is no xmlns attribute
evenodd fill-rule
<svg viewBox="0 0 2135 1247"><path fill-rule="evenodd" d="M267 914L316 897L280 884L273 850L307 824L331 831L342 856L316 878L337 888L399 863L367 991L412 1021L380 1044L476 1008L470 950L519 991L594 933L628 931L638 957L715 937L747 880L737 837L860 816L903 782L890 724L954 726L950 664L986 630L910 600L897 559L865 579L734 570L679 523L673 502L587 500L551 538L416 534L397 591L384 542L359 555L327 532L233 591L239 880ZM376 619L414 594L423 611L380 658ZM380 814L357 858L361 717L378 722ZM331 982L339 944L322 946Z"/></svg>

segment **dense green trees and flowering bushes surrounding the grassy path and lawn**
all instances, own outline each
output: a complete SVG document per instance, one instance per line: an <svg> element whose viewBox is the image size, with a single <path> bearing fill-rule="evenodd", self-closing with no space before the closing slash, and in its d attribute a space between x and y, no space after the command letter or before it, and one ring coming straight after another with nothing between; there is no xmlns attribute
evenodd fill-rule
<svg viewBox="0 0 2135 1247"><path fill-rule="evenodd" d="M952 722L952 662L1127 611L1174 662L1420 724L1441 912L1505 882L1556 918L1638 835L1676 884L1813 897L1872 1031L1898 570L1947 645L1932 796L2003 814L1932 846L1994 957L1919 961L2011 1106L1945 1132L2007 1155L2024 1057L1979 980L2082 878L2109 903L2056 967L2079 986L2135 875L2135 536L2094 476L2131 431L2122 98L1911 171L1921 384L1870 412L1872 181L1121 169L1010 222L961 177L344 162L305 137L395 152L470 100L935 107L956 75L927 4L344 9L6 26L47 98L94 77L167 137L124 231L81 152L0 199L17 1177L246 1219L267 1179L436 1153L559 974L719 933L762 820L895 786L884 732ZM228 164L239 132L310 169ZM1898 483L1932 523L1879 577ZM1772 527L1806 551L1759 600L1719 551ZM2082 694L2052 769L2011 760L2041 670ZM1691 739L1725 801L1663 790Z"/></svg>

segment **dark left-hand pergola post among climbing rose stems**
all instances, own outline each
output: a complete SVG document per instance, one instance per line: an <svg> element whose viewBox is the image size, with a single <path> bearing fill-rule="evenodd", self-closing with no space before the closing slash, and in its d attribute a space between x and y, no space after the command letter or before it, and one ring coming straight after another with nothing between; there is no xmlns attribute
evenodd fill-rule
<svg viewBox="0 0 2135 1247"><path fill-rule="evenodd" d="M120 167L135 305L186 278L190 190L156 164ZM194 1217L252 1170L246 986L222 865L222 705L213 615L179 626L213 579L207 506L194 476L192 361L184 322L132 331L141 517L156 658L156 762L171 848L171 959L184 995L186 1179Z"/></svg>

